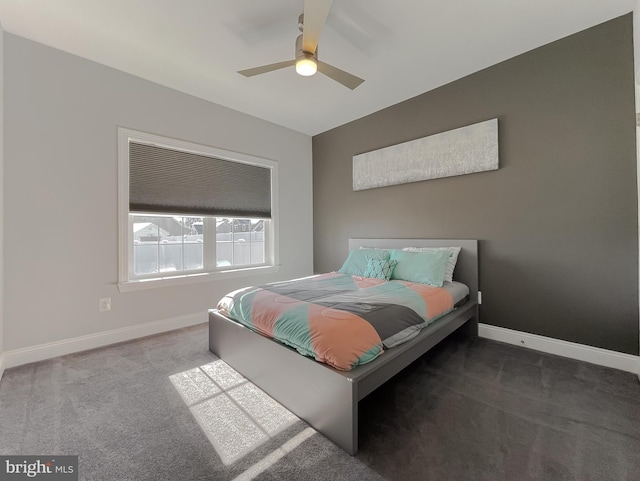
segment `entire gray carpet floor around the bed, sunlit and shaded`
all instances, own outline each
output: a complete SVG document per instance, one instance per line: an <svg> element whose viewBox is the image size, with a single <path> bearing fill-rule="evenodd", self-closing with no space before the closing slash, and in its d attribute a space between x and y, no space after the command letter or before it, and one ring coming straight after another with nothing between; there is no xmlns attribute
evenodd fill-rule
<svg viewBox="0 0 640 481"><path fill-rule="evenodd" d="M84 480L633 480L640 383L452 336L360 403L351 457L207 350L206 325L0 381L0 454L78 454Z"/></svg>

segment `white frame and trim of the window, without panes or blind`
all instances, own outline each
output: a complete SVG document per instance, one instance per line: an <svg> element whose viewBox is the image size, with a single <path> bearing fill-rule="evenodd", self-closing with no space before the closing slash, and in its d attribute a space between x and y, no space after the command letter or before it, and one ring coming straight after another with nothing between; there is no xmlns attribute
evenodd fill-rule
<svg viewBox="0 0 640 481"><path fill-rule="evenodd" d="M130 264L133 260L133 234L129 215L130 141L150 143L158 147L181 150L270 169L271 219L266 223L267 228L265 229L265 263L259 266L230 266L223 269L207 268L207 247L204 246L205 265L202 270L179 272L176 274L159 273L158 276L152 277L132 277ZM144 214L142 213L142 215ZM149 215L161 214L149 213ZM202 217L201 215L195 214L193 216ZM218 217L230 216L221 215ZM148 132L118 127L118 289L120 292L277 272L279 269L278 232L278 163L276 161L185 140L163 137ZM215 245L213 246L213 252L215 253Z"/></svg>

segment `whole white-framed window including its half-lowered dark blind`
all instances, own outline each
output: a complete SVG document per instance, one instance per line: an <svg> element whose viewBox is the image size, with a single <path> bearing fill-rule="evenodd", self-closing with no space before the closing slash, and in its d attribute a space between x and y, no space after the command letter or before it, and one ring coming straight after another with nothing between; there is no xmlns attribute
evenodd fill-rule
<svg viewBox="0 0 640 481"><path fill-rule="evenodd" d="M119 129L120 290L275 269L277 163Z"/></svg>

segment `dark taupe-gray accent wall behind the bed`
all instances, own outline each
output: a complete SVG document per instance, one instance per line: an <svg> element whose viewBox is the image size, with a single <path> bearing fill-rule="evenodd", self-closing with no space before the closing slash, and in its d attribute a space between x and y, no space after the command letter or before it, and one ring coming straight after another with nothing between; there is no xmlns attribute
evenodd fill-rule
<svg viewBox="0 0 640 481"><path fill-rule="evenodd" d="M626 15L315 136L315 271L349 237L477 238L481 322L637 355L633 82ZM352 191L353 155L494 117L499 170Z"/></svg>

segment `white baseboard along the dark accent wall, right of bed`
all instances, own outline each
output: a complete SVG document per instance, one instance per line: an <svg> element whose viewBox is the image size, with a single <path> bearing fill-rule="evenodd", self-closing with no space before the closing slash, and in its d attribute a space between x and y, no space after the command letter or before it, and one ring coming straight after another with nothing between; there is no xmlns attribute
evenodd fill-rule
<svg viewBox="0 0 640 481"><path fill-rule="evenodd" d="M586 346L574 342L562 341L551 337L538 336L527 332L514 331L504 327L479 325L479 336L494 341L528 347L558 356L569 357L579 361L590 362L600 366L612 367L622 371L632 372L640 377L640 356L632 356L599 347Z"/></svg>

